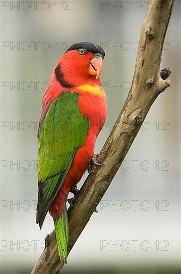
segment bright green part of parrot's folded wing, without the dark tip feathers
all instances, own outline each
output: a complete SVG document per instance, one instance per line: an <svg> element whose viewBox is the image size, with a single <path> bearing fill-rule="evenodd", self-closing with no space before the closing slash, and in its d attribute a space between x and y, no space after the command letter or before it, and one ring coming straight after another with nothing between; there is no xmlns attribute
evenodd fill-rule
<svg viewBox="0 0 181 274"><path fill-rule="evenodd" d="M50 105L39 138L39 181L44 182L72 162L75 149L85 143L89 122L78 108L79 95L64 92Z"/></svg>

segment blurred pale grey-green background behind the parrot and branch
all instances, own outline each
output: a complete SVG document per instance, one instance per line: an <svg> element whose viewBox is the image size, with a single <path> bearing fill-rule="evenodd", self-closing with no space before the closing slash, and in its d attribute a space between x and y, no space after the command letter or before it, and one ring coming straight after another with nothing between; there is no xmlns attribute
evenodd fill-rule
<svg viewBox="0 0 181 274"><path fill-rule="evenodd" d="M0 1L1 272L28 274L53 229L36 225L37 127L52 70L66 49L93 41L108 116L96 153L125 102L149 1ZM148 49L149 50L149 49ZM175 1L161 68L171 87L151 107L122 167L73 247L63 274L180 273L181 2ZM87 172L82 178L83 182ZM81 183L79 184L81 186Z"/></svg>

